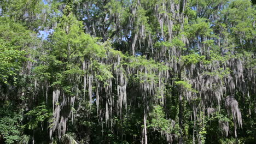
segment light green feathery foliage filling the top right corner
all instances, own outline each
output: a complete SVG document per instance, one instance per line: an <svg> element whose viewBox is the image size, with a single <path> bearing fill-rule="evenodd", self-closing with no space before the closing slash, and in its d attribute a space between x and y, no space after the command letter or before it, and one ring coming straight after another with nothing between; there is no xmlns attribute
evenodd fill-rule
<svg viewBox="0 0 256 144"><path fill-rule="evenodd" d="M230 34L235 36L236 43L243 49L254 49L252 44L246 42L255 39L255 5L248 0L232 1L222 14L229 20Z"/></svg>

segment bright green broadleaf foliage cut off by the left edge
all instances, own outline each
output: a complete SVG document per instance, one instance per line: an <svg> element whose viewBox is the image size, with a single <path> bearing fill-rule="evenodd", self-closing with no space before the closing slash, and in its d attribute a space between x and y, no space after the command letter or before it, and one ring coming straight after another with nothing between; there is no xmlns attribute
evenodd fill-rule
<svg viewBox="0 0 256 144"><path fill-rule="evenodd" d="M26 57L30 51L28 45L34 45L31 37L33 33L27 31L19 23L9 19L0 19L0 81L4 83L16 81L22 64L29 59ZM26 51L25 51L26 50ZM8 80L11 78L12 80ZM9 82L8 82L9 81Z"/></svg>

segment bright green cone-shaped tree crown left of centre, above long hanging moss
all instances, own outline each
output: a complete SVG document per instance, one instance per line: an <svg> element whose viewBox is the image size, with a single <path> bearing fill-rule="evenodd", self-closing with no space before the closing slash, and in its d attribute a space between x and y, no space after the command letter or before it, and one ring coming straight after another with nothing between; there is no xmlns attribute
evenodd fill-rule
<svg viewBox="0 0 256 144"><path fill-rule="evenodd" d="M92 61L90 68L99 71L97 78L100 81L106 81L112 77L109 67L98 62L98 58L105 58L107 50L103 45L97 43L97 38L92 38L83 31L81 22L75 19L73 15L63 16L61 23L55 29L50 39L53 44L53 50L49 51L50 56L54 58L49 62L51 73L55 73L53 86L66 87L69 95L73 95L71 89L83 76L86 71L82 70L81 65L84 61ZM46 58L47 59L47 58Z"/></svg>

